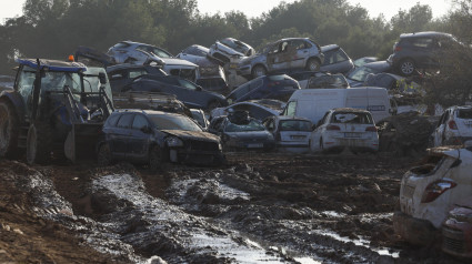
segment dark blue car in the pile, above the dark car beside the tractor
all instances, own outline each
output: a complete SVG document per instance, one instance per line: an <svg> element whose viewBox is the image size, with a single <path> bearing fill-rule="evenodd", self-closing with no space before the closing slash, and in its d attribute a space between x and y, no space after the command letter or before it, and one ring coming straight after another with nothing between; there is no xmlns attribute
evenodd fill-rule
<svg viewBox="0 0 472 264"><path fill-rule="evenodd" d="M173 75L142 75L124 87L121 92L132 91L174 94L189 108L212 110L228 105L223 95L205 91L189 80Z"/></svg>

